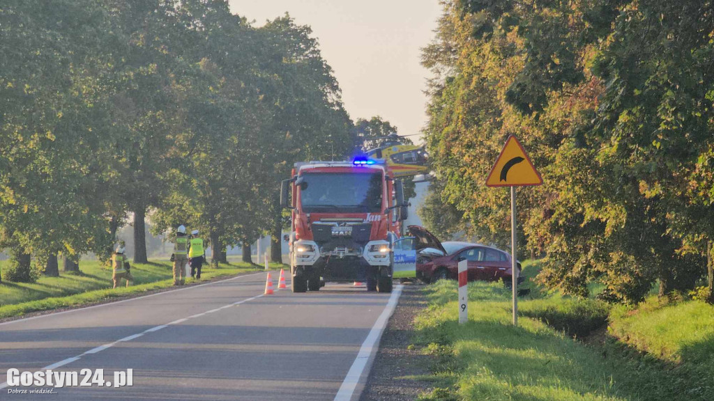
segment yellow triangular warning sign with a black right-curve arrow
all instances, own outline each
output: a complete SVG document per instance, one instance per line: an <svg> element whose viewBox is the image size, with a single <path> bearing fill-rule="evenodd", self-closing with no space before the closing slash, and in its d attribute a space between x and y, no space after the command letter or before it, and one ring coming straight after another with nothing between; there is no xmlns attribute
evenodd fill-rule
<svg viewBox="0 0 714 401"><path fill-rule="evenodd" d="M539 186L543 183L516 136L509 136L486 178L486 186Z"/></svg>

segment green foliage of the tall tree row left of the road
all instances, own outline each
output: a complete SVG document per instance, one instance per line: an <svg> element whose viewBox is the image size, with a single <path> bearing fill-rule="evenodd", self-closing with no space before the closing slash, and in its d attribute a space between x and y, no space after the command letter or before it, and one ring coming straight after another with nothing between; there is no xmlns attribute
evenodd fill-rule
<svg viewBox="0 0 714 401"><path fill-rule="evenodd" d="M226 1L11 0L0 29L0 248L106 259L147 210L155 233L251 242L281 219L295 161L349 151L332 70L287 15L255 28Z"/></svg>

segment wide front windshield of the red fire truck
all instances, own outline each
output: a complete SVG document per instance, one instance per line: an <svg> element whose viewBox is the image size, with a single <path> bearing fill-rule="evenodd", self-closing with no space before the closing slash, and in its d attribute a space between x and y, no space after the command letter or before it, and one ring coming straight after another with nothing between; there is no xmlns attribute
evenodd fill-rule
<svg viewBox="0 0 714 401"><path fill-rule="evenodd" d="M298 188L306 213L375 213L382 208L381 173L306 173Z"/></svg>

